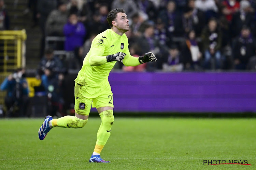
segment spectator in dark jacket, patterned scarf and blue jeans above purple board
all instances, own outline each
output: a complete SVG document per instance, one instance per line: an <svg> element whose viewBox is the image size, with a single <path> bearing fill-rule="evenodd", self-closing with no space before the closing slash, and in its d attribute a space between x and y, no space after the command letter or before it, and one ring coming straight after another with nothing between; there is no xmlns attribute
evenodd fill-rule
<svg viewBox="0 0 256 170"><path fill-rule="evenodd" d="M220 69L222 66L222 34L218 30L217 21L210 19L208 26L204 28L202 35L205 69Z"/></svg>

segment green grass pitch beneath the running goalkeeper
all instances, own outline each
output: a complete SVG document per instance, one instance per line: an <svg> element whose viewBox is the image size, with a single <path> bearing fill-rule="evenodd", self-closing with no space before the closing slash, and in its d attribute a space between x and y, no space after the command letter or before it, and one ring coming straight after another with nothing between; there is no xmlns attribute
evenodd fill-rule
<svg viewBox="0 0 256 170"><path fill-rule="evenodd" d="M101 157L88 163L100 118L82 129L54 128L41 141L43 119L0 119L0 169L255 169L256 119L115 118ZM248 165L203 165L203 160Z"/></svg>

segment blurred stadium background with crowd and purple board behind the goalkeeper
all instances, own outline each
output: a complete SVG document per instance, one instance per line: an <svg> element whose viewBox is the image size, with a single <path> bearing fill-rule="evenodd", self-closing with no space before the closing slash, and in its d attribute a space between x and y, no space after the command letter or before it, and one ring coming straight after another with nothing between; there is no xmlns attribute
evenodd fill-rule
<svg viewBox="0 0 256 170"><path fill-rule="evenodd" d="M131 55L157 57L116 63L115 115L255 115L254 0L0 0L0 117L74 115L74 79L113 8Z"/></svg>

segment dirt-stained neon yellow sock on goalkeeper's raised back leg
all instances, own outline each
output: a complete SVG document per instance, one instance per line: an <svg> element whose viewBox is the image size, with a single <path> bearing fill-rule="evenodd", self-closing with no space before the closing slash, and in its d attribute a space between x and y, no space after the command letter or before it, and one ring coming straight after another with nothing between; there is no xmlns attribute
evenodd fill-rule
<svg viewBox="0 0 256 170"><path fill-rule="evenodd" d="M75 116L64 116L59 119L51 120L51 124L53 127L58 126L61 128L83 128L87 121L88 119L83 120Z"/></svg>

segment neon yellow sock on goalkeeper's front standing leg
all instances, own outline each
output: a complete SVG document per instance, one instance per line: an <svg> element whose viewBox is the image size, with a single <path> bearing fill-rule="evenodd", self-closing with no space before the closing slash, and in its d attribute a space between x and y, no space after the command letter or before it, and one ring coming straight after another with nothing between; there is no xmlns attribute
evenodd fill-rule
<svg viewBox="0 0 256 170"><path fill-rule="evenodd" d="M101 124L97 133L97 141L94 152L99 153L109 139L112 124L114 122L114 115L112 110L106 110L100 113Z"/></svg>

